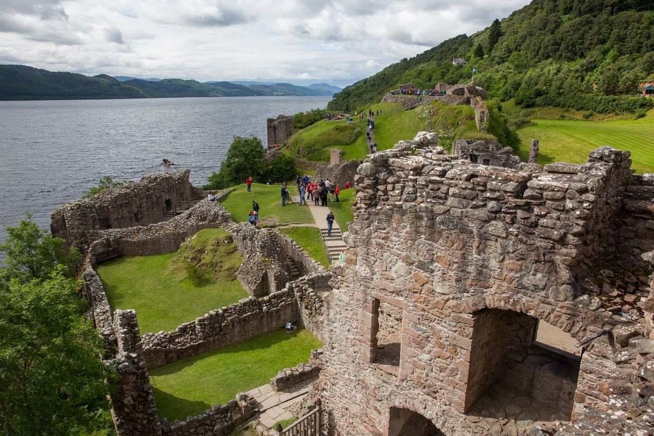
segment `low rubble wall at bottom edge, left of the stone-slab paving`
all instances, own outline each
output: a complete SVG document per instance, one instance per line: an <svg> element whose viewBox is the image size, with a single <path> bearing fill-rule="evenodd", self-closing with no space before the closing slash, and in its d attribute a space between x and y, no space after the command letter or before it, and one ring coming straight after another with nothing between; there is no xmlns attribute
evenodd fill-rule
<svg viewBox="0 0 654 436"><path fill-rule="evenodd" d="M216 404L208 411L168 424L162 419L163 436L226 436L258 412L252 395L237 394L226 405Z"/></svg>

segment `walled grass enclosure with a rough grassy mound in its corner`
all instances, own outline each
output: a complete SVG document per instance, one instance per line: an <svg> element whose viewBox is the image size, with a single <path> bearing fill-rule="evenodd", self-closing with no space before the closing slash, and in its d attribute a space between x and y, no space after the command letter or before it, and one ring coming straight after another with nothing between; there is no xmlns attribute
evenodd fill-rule
<svg viewBox="0 0 654 436"><path fill-rule="evenodd" d="M243 263L229 233L205 229L177 253L124 256L96 267L111 309L135 309L141 333L172 330L248 294L236 279ZM187 277L186 265L198 274Z"/></svg>

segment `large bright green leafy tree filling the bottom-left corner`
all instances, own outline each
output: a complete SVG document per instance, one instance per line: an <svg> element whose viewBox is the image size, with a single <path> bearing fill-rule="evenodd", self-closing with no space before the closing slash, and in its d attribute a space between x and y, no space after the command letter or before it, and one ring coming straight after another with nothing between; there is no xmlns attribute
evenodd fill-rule
<svg viewBox="0 0 654 436"><path fill-rule="evenodd" d="M0 284L0 434L73 435L106 425L114 375L82 314L80 282L57 267L44 280Z"/></svg>

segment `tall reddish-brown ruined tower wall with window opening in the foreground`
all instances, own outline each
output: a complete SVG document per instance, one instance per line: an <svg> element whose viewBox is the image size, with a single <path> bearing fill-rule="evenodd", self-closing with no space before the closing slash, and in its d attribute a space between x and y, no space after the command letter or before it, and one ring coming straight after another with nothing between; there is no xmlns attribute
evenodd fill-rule
<svg viewBox="0 0 654 436"><path fill-rule="evenodd" d="M501 433L504 423L464 413L475 314L483 309L525 314L577 340L613 329L613 339L584 347L572 420L613 407L618 389L635 411L634 422L619 418L621 428L646 422L647 394L638 386L650 377L647 354L624 339L645 340L638 324L579 295L579 280L610 250L606 236L623 205L628 152L599 148L574 171L557 164L526 173L423 146L404 141L358 168L345 264L331 267L325 368L316 385L330 431L387 434L397 407L422 414L448 436ZM397 375L371 362L375 299L403 310ZM618 334L623 328L629 333ZM619 370L621 356L631 356L627 371Z"/></svg>

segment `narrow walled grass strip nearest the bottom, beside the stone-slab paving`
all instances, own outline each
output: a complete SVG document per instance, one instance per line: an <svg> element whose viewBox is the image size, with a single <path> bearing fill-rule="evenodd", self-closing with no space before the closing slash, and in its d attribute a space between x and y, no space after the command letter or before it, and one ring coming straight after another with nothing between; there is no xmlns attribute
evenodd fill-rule
<svg viewBox="0 0 654 436"><path fill-rule="evenodd" d="M150 382L160 418L169 422L225 404L239 392L270 382L284 368L307 362L322 344L308 330L282 329L152 369Z"/></svg>

